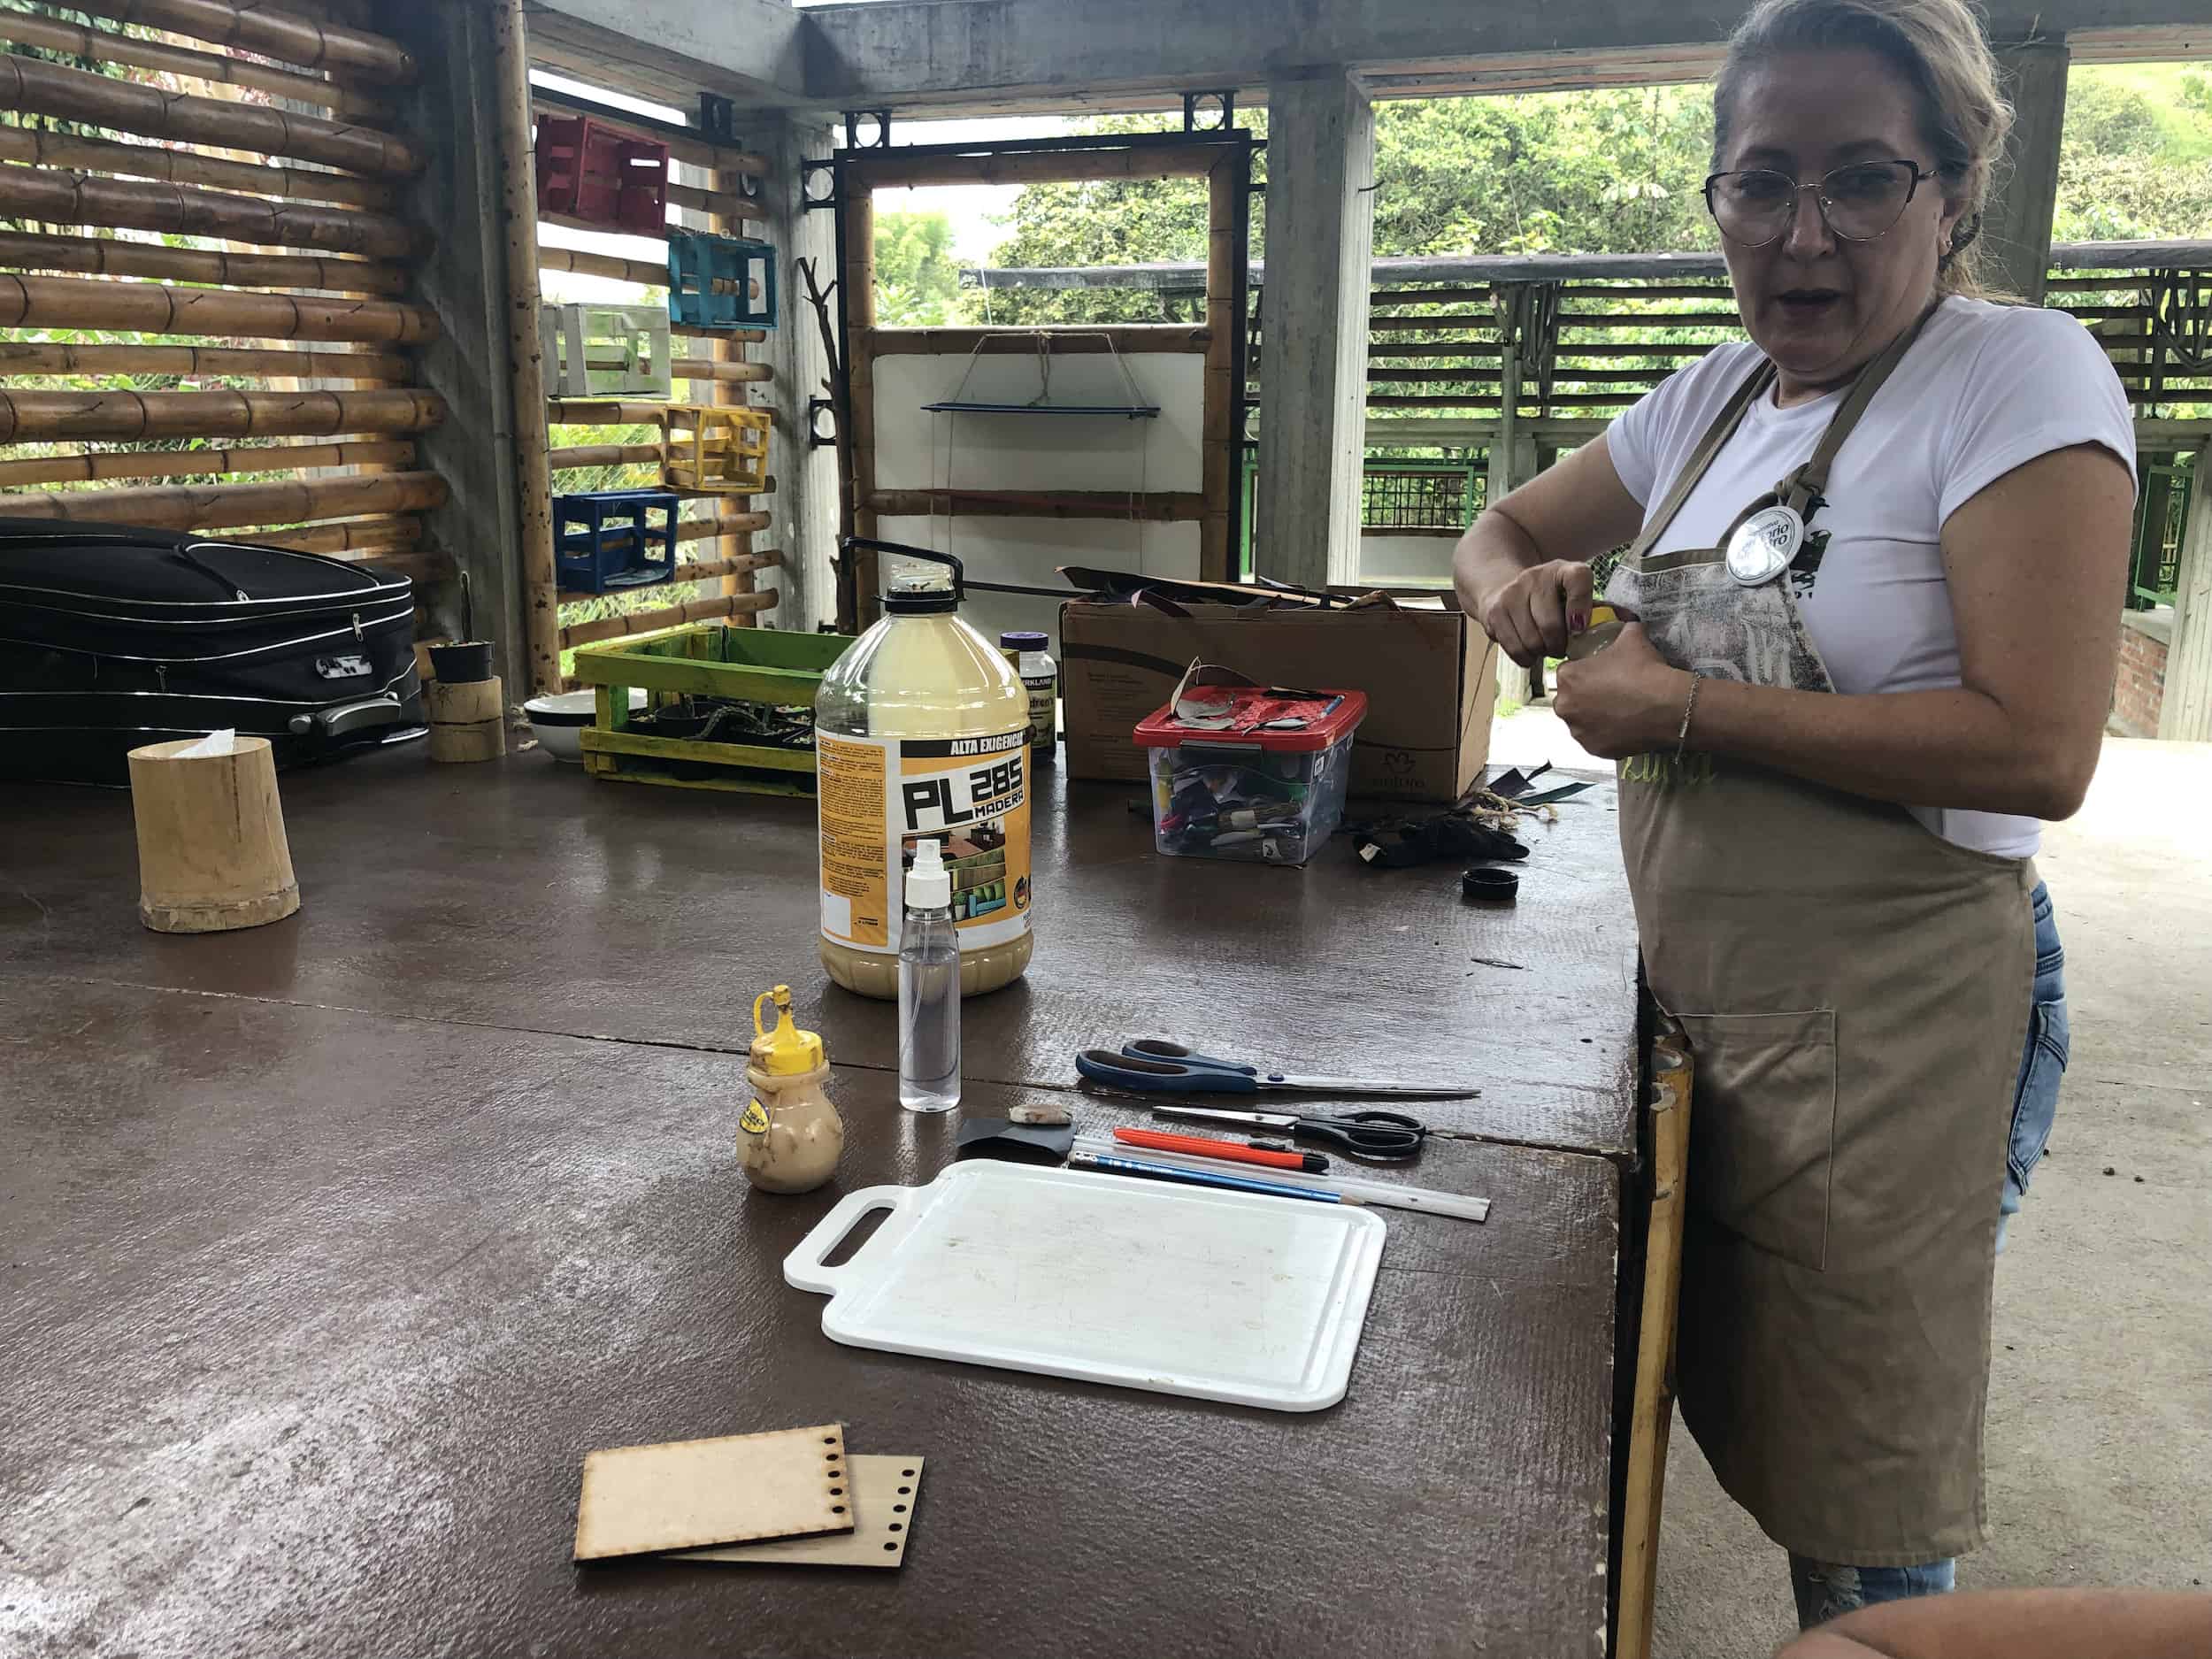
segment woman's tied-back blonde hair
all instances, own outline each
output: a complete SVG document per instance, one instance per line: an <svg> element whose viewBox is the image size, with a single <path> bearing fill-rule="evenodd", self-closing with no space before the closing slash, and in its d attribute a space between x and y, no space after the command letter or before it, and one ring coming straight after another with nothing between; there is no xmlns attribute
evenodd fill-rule
<svg viewBox="0 0 2212 1659"><path fill-rule="evenodd" d="M1747 69L1785 51L1869 51L1905 77L1944 195L1960 201L1951 246L1936 261L1938 294L1995 299L1982 281L1982 210L2013 131L1997 60L1966 0L1759 0L1728 38L1712 84L1712 155L1721 166L1736 88Z"/></svg>

